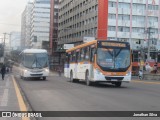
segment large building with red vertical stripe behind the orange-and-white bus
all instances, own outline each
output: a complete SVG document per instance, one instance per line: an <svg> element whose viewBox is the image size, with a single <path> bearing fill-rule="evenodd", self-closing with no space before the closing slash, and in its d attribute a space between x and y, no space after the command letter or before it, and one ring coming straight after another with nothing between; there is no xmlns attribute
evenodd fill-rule
<svg viewBox="0 0 160 120"><path fill-rule="evenodd" d="M160 41L160 0L60 0L58 45L83 43L85 37L128 41L132 49ZM104 4L103 4L104 3ZM108 14L100 13L108 8ZM101 20L106 19L102 23ZM100 27L106 26L106 28ZM104 24L104 25L103 25Z"/></svg>

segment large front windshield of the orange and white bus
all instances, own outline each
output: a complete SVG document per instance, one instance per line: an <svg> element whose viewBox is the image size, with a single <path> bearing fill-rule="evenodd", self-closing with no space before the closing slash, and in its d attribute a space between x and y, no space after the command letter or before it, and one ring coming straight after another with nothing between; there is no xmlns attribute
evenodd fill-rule
<svg viewBox="0 0 160 120"><path fill-rule="evenodd" d="M118 47L97 49L97 64L103 70L126 70L130 62L129 49Z"/></svg>

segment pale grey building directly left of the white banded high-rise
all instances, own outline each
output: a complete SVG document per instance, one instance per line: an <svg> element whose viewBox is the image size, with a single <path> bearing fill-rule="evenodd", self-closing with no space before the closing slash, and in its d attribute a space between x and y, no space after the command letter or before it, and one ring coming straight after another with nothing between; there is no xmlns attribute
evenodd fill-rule
<svg viewBox="0 0 160 120"><path fill-rule="evenodd" d="M33 3L28 2L21 18L21 47L29 48L31 44L31 10Z"/></svg>

